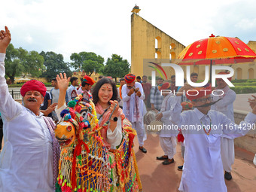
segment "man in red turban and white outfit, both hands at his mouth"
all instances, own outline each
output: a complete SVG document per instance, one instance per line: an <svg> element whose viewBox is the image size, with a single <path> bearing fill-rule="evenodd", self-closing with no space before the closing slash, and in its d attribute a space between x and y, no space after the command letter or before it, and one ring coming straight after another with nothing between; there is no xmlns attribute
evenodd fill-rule
<svg viewBox="0 0 256 192"><path fill-rule="evenodd" d="M142 84L135 82L135 79L136 76L133 74L124 76L126 84L122 87L123 114L130 120L133 129L137 132L139 150L143 153L147 153L147 150L143 147L144 142L147 139L143 123L143 100L145 99L145 94L143 92Z"/></svg>

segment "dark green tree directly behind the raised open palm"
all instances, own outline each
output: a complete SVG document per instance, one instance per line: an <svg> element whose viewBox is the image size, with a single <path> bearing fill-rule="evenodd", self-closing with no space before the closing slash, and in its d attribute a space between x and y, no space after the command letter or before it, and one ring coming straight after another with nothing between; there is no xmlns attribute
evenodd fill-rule
<svg viewBox="0 0 256 192"><path fill-rule="evenodd" d="M69 63L64 62L62 54L54 53L53 51L45 53L42 51L40 53L44 57L44 66L46 66L46 71L43 72L41 77L53 78L59 73L66 73L66 75L72 76L72 72L69 69Z"/></svg>

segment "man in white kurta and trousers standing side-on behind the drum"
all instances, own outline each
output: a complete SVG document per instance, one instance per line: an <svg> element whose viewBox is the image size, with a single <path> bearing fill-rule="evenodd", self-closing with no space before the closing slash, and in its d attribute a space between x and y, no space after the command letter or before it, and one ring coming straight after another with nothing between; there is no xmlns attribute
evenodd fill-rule
<svg viewBox="0 0 256 192"><path fill-rule="evenodd" d="M165 84L163 84L162 87L164 87ZM165 88L163 90L165 90ZM178 135L178 130L172 128L172 122L169 120L172 109L177 102L177 97L173 96L172 93L163 93L163 96L162 107L160 113L157 114L156 120L161 120L163 123L162 130L160 130L159 133L159 141L164 155L157 157L157 160L164 160L163 165L169 165L170 163L174 163L173 156L176 153L177 145L175 136Z"/></svg>

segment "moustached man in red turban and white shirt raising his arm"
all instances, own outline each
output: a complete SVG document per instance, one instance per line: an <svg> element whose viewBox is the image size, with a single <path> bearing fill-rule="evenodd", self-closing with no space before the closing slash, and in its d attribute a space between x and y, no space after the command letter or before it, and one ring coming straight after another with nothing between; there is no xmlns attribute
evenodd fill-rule
<svg viewBox="0 0 256 192"><path fill-rule="evenodd" d="M0 156L0 191L54 191L59 144L55 124L39 111L46 87L27 81L20 89L23 105L15 102L5 80L5 53L11 41L7 27L0 32L0 111L4 141Z"/></svg>

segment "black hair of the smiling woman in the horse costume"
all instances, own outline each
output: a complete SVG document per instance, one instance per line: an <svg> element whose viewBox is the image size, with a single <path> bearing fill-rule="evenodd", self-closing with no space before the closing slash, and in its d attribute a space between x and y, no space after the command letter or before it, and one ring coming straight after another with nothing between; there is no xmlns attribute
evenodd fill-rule
<svg viewBox="0 0 256 192"><path fill-rule="evenodd" d="M102 78L96 83L95 87L93 87L93 102L95 105L97 104L97 102L99 102L98 93L99 93L100 87L102 87L103 84L111 84L113 96L111 97L110 100L117 100L117 86L115 85L114 81L111 80L110 78Z"/></svg>

